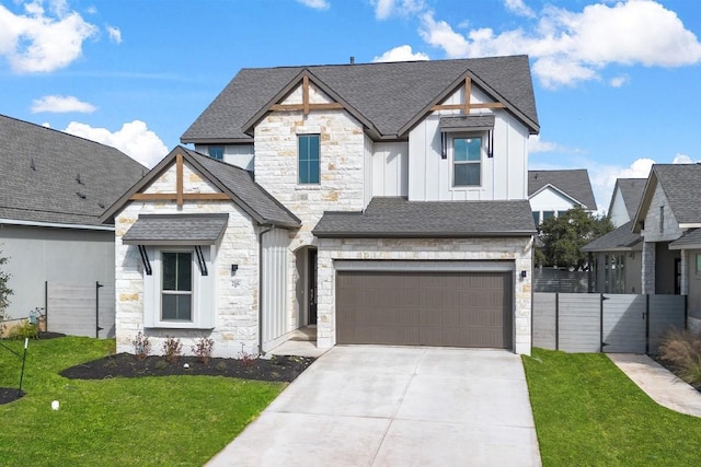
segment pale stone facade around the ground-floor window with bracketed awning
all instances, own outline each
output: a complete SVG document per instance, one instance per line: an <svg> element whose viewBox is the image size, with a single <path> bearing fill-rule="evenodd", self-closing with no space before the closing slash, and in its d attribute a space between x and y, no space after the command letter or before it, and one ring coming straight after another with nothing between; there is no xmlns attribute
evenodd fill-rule
<svg viewBox="0 0 701 467"><path fill-rule="evenodd" d="M183 171L185 192L216 192L212 185L185 165ZM175 166L154 180L146 194L174 192ZM139 214L202 214L228 213L229 222L220 242L215 245L210 275L216 275L211 297L216 314L216 327L211 329L145 328L143 289L146 273L136 245L124 245L122 237L136 222ZM185 202L177 207L174 201L130 201L115 218L116 237L116 341L118 352L134 352L131 341L142 331L152 343L152 353L162 352L165 336L182 339L183 351L199 337L215 341L217 357L239 357L242 351L257 352L258 313L258 248L257 232L252 219L230 201ZM239 265L235 276L231 265Z"/></svg>

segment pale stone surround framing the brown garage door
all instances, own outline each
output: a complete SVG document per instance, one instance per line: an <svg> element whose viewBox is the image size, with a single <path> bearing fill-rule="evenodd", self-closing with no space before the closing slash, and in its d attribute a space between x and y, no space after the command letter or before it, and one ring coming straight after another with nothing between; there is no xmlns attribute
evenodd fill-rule
<svg viewBox="0 0 701 467"><path fill-rule="evenodd" d="M514 261L514 350L530 354L531 238L320 238L317 327L320 348L336 343L334 259ZM526 278L519 271L527 271Z"/></svg>

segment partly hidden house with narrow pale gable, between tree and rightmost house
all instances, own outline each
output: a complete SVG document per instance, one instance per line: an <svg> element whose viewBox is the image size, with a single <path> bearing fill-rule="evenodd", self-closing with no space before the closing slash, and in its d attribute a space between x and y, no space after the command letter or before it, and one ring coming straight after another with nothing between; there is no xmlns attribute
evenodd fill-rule
<svg viewBox="0 0 701 467"><path fill-rule="evenodd" d="M590 255L590 292L641 293L643 237L633 232L646 178L618 178L608 215L616 229L585 245Z"/></svg>

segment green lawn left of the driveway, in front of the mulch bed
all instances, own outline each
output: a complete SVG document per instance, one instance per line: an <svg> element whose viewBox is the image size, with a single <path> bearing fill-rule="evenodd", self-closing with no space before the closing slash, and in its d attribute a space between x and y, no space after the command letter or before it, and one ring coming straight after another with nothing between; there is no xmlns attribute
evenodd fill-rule
<svg viewBox="0 0 701 467"><path fill-rule="evenodd" d="M22 352L23 342L2 343ZM3 466L202 466L284 388L221 376L67 380L61 370L114 351L113 340L31 340L23 398L0 406ZM0 347L0 387L21 360ZM51 410L51 401L60 410Z"/></svg>

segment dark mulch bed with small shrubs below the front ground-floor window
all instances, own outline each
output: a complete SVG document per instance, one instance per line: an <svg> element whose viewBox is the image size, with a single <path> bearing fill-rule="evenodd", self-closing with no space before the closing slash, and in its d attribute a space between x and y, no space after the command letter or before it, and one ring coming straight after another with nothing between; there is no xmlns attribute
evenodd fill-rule
<svg viewBox="0 0 701 467"><path fill-rule="evenodd" d="M71 380L104 380L111 377L142 377L172 375L227 376L243 380L291 382L314 359L306 357L272 357L271 359L210 359L207 364L196 357L180 357L168 362L163 357L143 360L130 353L117 353L92 362L81 363L60 372Z"/></svg>

